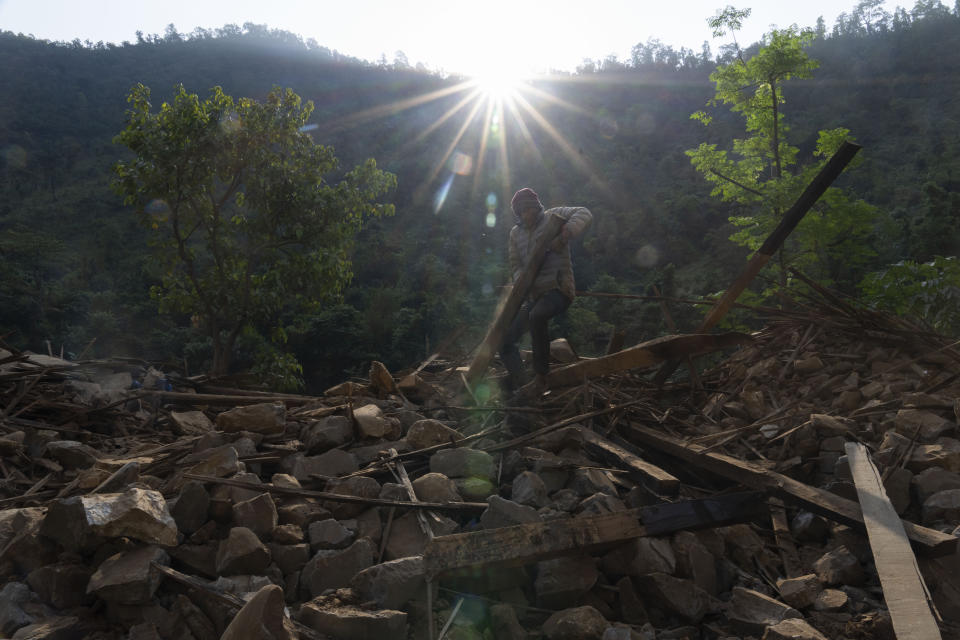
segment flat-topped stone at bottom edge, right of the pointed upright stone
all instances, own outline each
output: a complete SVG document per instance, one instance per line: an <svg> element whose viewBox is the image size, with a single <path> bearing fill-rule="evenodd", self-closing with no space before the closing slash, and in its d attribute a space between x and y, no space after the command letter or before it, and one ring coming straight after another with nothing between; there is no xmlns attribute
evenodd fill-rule
<svg viewBox="0 0 960 640"><path fill-rule="evenodd" d="M338 640L407 637L407 614L391 609L366 611L308 602L300 607L299 620L314 631Z"/></svg>

